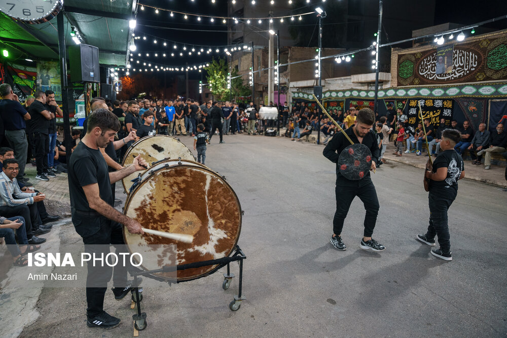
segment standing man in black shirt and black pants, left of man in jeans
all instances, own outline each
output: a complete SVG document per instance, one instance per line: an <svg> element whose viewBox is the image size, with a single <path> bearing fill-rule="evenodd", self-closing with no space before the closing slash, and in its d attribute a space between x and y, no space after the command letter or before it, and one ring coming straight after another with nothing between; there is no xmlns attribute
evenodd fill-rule
<svg viewBox="0 0 507 338"><path fill-rule="evenodd" d="M55 114L48 110L46 103L46 94L42 91L35 92L35 101L28 108L31 116L31 132L33 143L35 143L35 165L37 165L36 179L49 181L48 153L49 153L49 121L55 117Z"/></svg>

